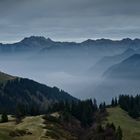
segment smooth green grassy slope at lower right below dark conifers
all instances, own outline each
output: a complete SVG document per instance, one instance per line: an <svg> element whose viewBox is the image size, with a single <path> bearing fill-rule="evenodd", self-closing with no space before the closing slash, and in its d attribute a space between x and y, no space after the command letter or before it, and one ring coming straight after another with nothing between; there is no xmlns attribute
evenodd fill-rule
<svg viewBox="0 0 140 140"><path fill-rule="evenodd" d="M121 126L123 140L140 140L140 121L132 119L119 107L109 108L108 113L108 121Z"/></svg>

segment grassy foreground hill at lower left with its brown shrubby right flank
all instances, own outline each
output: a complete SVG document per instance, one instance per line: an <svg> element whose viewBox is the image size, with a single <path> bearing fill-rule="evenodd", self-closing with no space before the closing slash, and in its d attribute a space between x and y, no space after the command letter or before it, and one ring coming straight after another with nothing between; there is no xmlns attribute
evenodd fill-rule
<svg viewBox="0 0 140 140"><path fill-rule="evenodd" d="M64 112L63 112L64 113ZM112 134L113 129L102 129L94 124L83 128L75 117L69 120L62 112L47 115L25 117L22 122L15 123L13 116L8 116L9 122L0 123L1 140L117 140ZM66 118L67 119L66 119ZM103 135L103 136L102 136ZM105 137L104 137L105 136Z"/></svg>

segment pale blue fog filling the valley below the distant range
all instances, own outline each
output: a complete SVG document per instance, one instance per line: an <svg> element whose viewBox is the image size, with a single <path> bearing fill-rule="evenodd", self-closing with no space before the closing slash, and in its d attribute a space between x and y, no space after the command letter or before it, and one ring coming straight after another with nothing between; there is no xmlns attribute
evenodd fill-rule
<svg viewBox="0 0 140 140"><path fill-rule="evenodd" d="M120 57L124 54L125 57ZM93 52L51 50L5 53L0 56L0 70L14 76L33 79L48 86L57 86L79 99L96 98L98 102L109 103L112 97L118 97L125 89L119 86L120 82L112 82L108 76L104 75L109 73L108 69L111 66L132 54L134 53L130 53L127 49L121 51L118 49L113 52L110 50L104 52L99 49ZM137 90L139 92L139 89Z"/></svg>

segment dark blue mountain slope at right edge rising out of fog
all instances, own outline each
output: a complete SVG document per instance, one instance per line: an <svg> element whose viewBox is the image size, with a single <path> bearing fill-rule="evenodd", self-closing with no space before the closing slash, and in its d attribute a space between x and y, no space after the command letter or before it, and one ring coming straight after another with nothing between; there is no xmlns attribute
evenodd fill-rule
<svg viewBox="0 0 140 140"><path fill-rule="evenodd" d="M121 63L112 66L104 73L104 76L111 79L140 80L140 55L134 54Z"/></svg>

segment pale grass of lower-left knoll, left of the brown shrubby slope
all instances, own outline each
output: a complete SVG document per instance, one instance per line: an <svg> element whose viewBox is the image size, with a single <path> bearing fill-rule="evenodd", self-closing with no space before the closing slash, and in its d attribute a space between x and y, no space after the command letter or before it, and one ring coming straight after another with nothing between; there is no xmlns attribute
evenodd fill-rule
<svg viewBox="0 0 140 140"><path fill-rule="evenodd" d="M11 137L9 133L15 130L28 130L30 135ZM44 140L44 129L42 116L26 117L16 125L14 118L8 123L0 123L0 140Z"/></svg>

